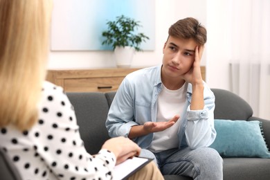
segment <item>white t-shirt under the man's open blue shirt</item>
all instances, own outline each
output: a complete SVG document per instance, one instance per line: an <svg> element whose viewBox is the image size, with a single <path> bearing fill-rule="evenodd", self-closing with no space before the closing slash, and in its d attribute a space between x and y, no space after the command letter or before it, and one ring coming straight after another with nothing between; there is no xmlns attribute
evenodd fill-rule
<svg viewBox="0 0 270 180"><path fill-rule="evenodd" d="M186 102L186 87L187 83L183 84L180 89L170 90L162 84L161 93L157 100L157 117L156 122L169 121L175 115L181 116L183 106ZM180 119L172 127L165 129L163 132L155 132L152 144L148 150L152 152L161 152L170 150L179 146L177 132L180 126Z"/></svg>

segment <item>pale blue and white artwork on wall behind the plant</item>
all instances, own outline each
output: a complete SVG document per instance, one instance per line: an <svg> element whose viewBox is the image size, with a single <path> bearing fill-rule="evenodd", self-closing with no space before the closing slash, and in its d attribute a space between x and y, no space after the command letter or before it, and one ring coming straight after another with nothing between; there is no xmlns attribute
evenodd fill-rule
<svg viewBox="0 0 270 180"><path fill-rule="evenodd" d="M142 25L138 32L150 39L141 44L143 51L154 50L154 0L55 0L52 28L52 51L111 50L102 45L102 31L107 21L125 15Z"/></svg>

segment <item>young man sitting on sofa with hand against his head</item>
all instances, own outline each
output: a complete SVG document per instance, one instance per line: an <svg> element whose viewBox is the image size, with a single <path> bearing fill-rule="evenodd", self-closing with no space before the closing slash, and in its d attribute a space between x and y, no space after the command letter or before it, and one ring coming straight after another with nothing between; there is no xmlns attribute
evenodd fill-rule
<svg viewBox="0 0 270 180"><path fill-rule="evenodd" d="M163 174L222 179L215 140L215 96L201 78L206 29L196 19L177 21L163 46L163 64L127 75L109 109L111 137L131 138Z"/></svg>

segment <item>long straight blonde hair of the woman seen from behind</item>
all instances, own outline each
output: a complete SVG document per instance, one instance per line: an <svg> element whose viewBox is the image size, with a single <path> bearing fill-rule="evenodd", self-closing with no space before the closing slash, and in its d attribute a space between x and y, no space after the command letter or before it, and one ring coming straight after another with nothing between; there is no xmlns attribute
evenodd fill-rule
<svg viewBox="0 0 270 180"><path fill-rule="evenodd" d="M0 0L0 127L37 122L51 11L51 0Z"/></svg>

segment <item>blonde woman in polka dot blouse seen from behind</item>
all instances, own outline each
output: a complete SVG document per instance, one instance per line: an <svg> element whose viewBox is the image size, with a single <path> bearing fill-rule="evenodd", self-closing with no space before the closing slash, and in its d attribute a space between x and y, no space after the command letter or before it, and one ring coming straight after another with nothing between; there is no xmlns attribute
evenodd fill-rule
<svg viewBox="0 0 270 180"><path fill-rule="evenodd" d="M51 0L0 0L1 148L23 179L113 179L141 148L120 137L96 156L84 149L69 99L44 81L51 10ZM163 177L150 163L130 179Z"/></svg>

